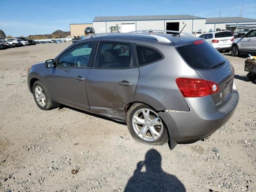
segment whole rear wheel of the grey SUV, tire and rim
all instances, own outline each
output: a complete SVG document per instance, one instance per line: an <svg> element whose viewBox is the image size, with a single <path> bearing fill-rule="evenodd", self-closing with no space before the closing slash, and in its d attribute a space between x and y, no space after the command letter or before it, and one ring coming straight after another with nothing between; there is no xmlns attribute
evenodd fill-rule
<svg viewBox="0 0 256 192"><path fill-rule="evenodd" d="M136 116L136 118L134 118L134 116ZM144 116L146 116L146 119L149 118L149 120L145 122ZM150 106L142 103L134 104L127 113L126 122L131 136L134 140L140 143L148 145L163 145L168 142L166 126ZM141 132L143 128L145 131ZM154 136L152 135L151 130L156 133L153 134Z"/></svg>

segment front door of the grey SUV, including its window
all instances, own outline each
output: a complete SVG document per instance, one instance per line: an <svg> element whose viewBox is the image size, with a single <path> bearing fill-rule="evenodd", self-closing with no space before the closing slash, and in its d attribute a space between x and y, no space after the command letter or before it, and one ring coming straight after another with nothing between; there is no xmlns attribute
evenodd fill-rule
<svg viewBox="0 0 256 192"><path fill-rule="evenodd" d="M93 43L80 44L58 59L48 76L53 100L81 110L90 111L86 94L87 68Z"/></svg>

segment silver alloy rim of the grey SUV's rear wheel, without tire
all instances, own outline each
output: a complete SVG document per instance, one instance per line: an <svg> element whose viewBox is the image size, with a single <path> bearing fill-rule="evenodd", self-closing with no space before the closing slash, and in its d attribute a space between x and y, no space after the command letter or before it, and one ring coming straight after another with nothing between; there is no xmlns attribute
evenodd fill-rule
<svg viewBox="0 0 256 192"><path fill-rule="evenodd" d="M155 141L163 133L163 123L156 112L142 108L134 113L132 126L136 134L146 141Z"/></svg>

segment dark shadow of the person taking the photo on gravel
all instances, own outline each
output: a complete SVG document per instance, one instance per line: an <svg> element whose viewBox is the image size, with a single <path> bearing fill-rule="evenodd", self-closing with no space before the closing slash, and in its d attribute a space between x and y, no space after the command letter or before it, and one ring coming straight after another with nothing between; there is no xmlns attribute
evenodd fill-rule
<svg viewBox="0 0 256 192"><path fill-rule="evenodd" d="M146 153L145 161L140 161L129 179L124 192L186 192L184 185L174 175L167 174L161 168L161 155L151 149ZM146 172L142 172L145 166Z"/></svg>

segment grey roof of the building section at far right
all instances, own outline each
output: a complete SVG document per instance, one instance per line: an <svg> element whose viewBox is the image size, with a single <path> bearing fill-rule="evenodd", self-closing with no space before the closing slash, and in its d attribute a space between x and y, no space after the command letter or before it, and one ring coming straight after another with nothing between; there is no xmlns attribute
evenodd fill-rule
<svg viewBox="0 0 256 192"><path fill-rule="evenodd" d="M242 22L256 22L256 19L249 19L244 17L216 17L207 18L206 24L210 23L242 23Z"/></svg>

